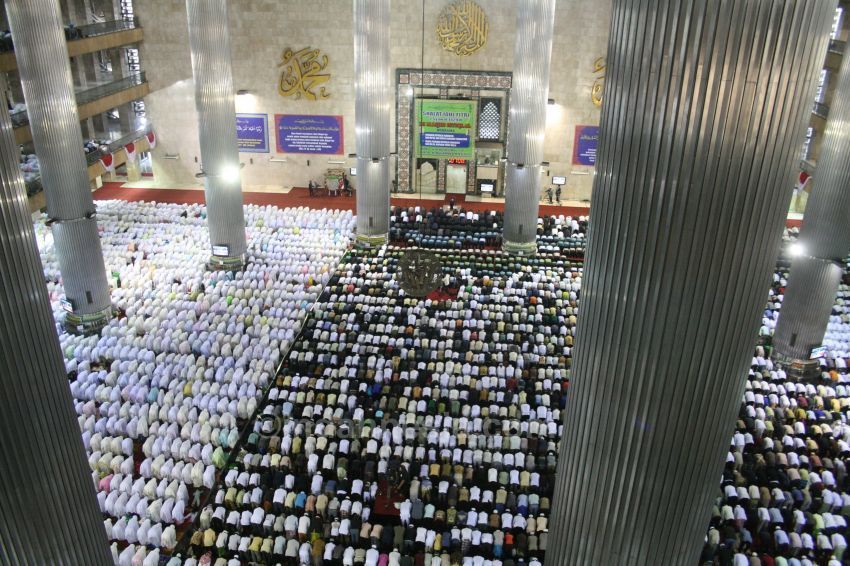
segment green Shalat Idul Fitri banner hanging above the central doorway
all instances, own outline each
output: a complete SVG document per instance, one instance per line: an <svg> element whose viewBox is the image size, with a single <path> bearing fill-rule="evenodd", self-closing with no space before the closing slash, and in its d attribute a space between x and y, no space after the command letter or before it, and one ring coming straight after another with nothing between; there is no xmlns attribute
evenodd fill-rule
<svg viewBox="0 0 850 566"><path fill-rule="evenodd" d="M474 100L417 100L416 157L473 159Z"/></svg>

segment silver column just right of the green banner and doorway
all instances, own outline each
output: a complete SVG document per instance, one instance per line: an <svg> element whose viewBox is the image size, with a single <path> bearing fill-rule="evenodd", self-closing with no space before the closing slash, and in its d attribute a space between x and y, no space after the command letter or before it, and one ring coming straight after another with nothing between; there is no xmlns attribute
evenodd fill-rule
<svg viewBox="0 0 850 566"><path fill-rule="evenodd" d="M525 0L516 6L502 247L508 252L533 254L537 251L555 0Z"/></svg>

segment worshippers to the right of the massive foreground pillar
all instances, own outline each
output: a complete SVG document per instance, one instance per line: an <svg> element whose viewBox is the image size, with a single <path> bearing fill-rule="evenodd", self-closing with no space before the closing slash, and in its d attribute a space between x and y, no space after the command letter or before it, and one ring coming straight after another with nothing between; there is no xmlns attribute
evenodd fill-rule
<svg viewBox="0 0 850 566"><path fill-rule="evenodd" d="M794 379L770 355L788 265L774 276L701 564L848 562L850 290L845 280L820 378Z"/></svg>

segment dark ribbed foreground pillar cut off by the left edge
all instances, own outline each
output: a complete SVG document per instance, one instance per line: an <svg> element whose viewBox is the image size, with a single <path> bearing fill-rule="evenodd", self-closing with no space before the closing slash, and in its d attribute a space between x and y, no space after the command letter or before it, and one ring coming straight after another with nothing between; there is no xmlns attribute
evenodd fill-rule
<svg viewBox="0 0 850 566"><path fill-rule="evenodd" d="M0 563L112 564L0 106Z"/></svg>

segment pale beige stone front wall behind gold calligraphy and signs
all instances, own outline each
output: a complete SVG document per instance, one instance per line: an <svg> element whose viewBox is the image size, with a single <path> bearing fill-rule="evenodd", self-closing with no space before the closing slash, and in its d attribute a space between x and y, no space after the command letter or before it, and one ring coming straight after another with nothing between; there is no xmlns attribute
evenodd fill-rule
<svg viewBox="0 0 850 566"><path fill-rule="evenodd" d="M511 71L514 1L478 0L489 19L489 37L480 51L468 57L442 49L437 41L437 15L447 3L448 0L425 2L425 68ZM149 120L158 138L154 171L161 183L193 184L194 173L199 170L195 158L200 153L185 2L142 0L137 3L137 11L145 27L142 61L153 90L146 100ZM593 62L605 55L610 12L610 0L560 0L557 4L549 92L556 104L549 107L545 158L551 163L550 174L568 176L564 198L590 197L592 176L571 174L587 172L579 171L587 168L571 165L572 145L576 124L599 122L599 109L591 102L590 89L595 78ZM308 179L320 178L325 169L335 166L328 165L328 159L346 159L345 155L288 155L287 163L269 162L270 156L282 157L274 153L274 114L342 115L345 153L356 153L351 19L352 2L347 0L231 1L234 87L250 91L249 96L239 97L236 111L269 115L272 151L242 154L246 164L245 190L257 186L305 186ZM422 20L421 2L392 0L393 81L395 69L423 64ZM294 100L277 92L277 64L283 50L307 46L321 49L330 58L327 71L331 79L325 85L331 97L327 100ZM393 128L394 121L393 116ZM180 159L164 160L165 154L179 154Z"/></svg>

